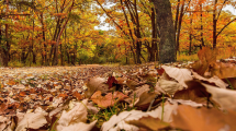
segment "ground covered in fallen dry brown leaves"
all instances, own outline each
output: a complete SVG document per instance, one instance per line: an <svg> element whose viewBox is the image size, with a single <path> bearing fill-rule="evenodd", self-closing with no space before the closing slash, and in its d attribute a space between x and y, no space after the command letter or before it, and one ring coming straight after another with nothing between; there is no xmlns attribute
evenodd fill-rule
<svg viewBox="0 0 236 131"><path fill-rule="evenodd" d="M235 131L235 58L0 68L0 130Z"/></svg>

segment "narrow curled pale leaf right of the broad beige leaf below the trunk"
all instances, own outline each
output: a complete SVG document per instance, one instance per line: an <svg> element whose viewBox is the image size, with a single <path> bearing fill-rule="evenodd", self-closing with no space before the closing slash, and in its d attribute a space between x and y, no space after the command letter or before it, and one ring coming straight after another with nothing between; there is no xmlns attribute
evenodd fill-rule
<svg viewBox="0 0 236 131"><path fill-rule="evenodd" d="M228 84L226 84L224 81L222 81L221 79L218 79L217 76L212 76L210 79L205 79L201 75L199 75L198 73L195 72L192 72L193 74L193 78L194 79L198 79L198 80L201 80L201 81L206 81L209 83L214 83L216 86L221 87L221 88L226 88L226 86L228 86Z"/></svg>

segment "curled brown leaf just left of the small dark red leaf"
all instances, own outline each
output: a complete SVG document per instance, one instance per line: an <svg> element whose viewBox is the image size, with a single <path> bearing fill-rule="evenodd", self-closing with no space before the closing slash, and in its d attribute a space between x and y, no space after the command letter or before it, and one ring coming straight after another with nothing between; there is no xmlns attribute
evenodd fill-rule
<svg viewBox="0 0 236 131"><path fill-rule="evenodd" d="M87 98L91 97L97 91L106 93L109 91L109 85L105 84L105 79L102 78L92 78L87 82L88 91L85 92Z"/></svg>

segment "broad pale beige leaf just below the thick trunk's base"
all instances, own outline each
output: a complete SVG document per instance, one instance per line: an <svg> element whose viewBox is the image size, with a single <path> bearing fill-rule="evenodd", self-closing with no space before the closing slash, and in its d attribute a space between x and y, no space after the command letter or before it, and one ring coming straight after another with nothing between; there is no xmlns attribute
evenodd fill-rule
<svg viewBox="0 0 236 131"><path fill-rule="evenodd" d="M161 66L161 68L170 78L177 80L183 87L188 87L184 83L186 81L193 80L189 69L179 69L167 66Z"/></svg>

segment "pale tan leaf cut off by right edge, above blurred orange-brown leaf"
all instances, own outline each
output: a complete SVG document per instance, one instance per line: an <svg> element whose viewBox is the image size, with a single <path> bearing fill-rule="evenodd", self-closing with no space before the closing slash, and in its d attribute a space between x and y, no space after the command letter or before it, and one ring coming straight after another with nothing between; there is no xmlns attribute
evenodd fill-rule
<svg viewBox="0 0 236 131"><path fill-rule="evenodd" d="M236 91L218 88L209 84L202 83L206 91L212 94L212 99L221 105L224 109L236 110Z"/></svg>

